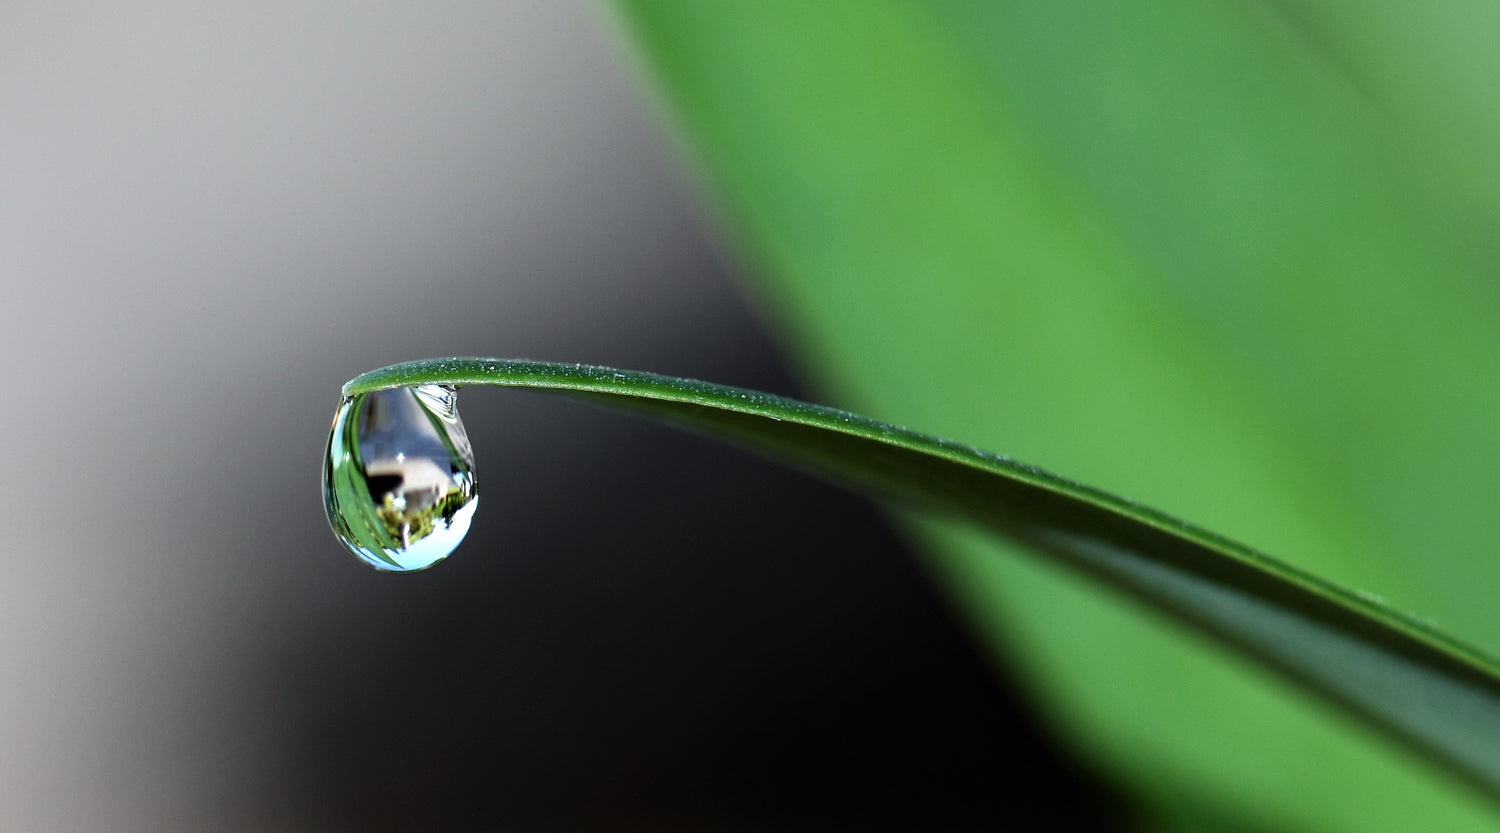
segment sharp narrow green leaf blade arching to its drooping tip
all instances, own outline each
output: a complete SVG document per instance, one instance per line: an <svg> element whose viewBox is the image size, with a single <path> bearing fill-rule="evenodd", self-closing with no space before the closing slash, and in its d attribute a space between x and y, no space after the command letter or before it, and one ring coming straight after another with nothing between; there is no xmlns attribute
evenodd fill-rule
<svg viewBox="0 0 1500 833"><path fill-rule="evenodd" d="M1161 512L848 411L633 371L434 359L363 374L344 395L417 384L566 393L982 524L1276 668L1500 798L1500 665L1370 596Z"/></svg>

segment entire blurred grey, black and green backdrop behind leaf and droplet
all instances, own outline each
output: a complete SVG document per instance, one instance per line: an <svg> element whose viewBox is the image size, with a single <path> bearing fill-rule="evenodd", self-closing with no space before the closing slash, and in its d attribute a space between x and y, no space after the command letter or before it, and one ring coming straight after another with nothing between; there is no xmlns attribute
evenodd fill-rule
<svg viewBox="0 0 1500 833"><path fill-rule="evenodd" d="M1026 552L476 390L376 575L338 386L742 384L1130 495L1500 648L1488 0L8 5L4 830L1478 831Z"/></svg>

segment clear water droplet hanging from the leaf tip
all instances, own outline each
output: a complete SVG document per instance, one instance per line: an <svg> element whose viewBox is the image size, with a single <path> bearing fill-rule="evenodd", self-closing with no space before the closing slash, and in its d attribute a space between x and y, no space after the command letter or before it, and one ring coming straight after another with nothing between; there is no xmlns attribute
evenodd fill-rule
<svg viewBox="0 0 1500 833"><path fill-rule="evenodd" d="M378 570L447 558L478 506L458 392L423 384L345 399L322 459L322 503L344 546Z"/></svg>

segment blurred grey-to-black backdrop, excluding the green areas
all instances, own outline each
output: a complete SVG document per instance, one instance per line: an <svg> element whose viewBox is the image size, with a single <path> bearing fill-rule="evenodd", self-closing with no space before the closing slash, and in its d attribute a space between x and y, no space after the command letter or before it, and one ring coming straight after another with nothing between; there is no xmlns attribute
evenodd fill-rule
<svg viewBox="0 0 1500 833"><path fill-rule="evenodd" d="M531 395L464 549L333 540L338 386L801 387L606 8L12 3L4 830L988 828L1124 806L868 504ZM1020 807L1020 809L1017 809Z"/></svg>

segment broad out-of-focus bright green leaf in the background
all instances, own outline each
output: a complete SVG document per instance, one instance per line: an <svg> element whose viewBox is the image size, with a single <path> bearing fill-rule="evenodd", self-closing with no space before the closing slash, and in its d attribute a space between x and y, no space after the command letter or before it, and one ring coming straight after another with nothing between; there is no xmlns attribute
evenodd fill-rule
<svg viewBox="0 0 1500 833"><path fill-rule="evenodd" d="M1500 117L1480 6L620 5L832 396L1496 647L1500 180L1482 174ZM922 528L1071 746L1164 824L1494 824L1174 627Z"/></svg>

